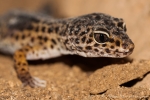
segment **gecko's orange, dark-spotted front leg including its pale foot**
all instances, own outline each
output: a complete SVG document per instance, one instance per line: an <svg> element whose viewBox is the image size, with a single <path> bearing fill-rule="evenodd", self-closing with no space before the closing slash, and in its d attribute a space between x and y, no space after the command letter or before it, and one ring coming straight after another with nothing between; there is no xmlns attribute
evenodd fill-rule
<svg viewBox="0 0 150 100"><path fill-rule="evenodd" d="M28 50L33 50L34 47L26 46L20 50L17 50L14 54L14 68L18 78L23 83L23 86L29 85L30 87L45 87L46 81L31 76L29 72L28 62L26 55Z"/></svg>

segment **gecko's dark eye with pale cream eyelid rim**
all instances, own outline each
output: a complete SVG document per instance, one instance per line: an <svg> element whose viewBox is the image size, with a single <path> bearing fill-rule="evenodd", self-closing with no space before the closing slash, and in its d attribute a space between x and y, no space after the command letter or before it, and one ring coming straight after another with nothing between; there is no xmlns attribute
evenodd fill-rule
<svg viewBox="0 0 150 100"><path fill-rule="evenodd" d="M109 40L109 34L103 31L94 31L94 40L97 43L105 43Z"/></svg>

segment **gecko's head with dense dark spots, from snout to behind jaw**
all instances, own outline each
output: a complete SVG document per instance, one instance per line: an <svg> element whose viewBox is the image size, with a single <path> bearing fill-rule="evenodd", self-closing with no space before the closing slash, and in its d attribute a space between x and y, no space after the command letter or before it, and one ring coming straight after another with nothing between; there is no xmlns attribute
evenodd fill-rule
<svg viewBox="0 0 150 100"><path fill-rule="evenodd" d="M121 18L93 13L74 19L72 25L78 55L122 58L133 52L134 43L126 34L126 24Z"/></svg>

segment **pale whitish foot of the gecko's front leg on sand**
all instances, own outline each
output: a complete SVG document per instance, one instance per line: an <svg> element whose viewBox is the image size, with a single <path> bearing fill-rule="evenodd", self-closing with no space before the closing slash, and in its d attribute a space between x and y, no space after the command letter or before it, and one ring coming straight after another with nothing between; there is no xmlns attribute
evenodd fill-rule
<svg viewBox="0 0 150 100"><path fill-rule="evenodd" d="M26 81L22 81L23 86L27 86L29 85L32 88L35 87L46 87L46 81L41 80L37 77L31 77L30 79L26 80Z"/></svg>

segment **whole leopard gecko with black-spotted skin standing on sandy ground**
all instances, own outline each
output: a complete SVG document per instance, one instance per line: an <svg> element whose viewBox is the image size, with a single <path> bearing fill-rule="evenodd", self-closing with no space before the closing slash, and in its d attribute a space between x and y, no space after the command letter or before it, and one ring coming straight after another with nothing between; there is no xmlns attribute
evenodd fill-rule
<svg viewBox="0 0 150 100"><path fill-rule="evenodd" d="M122 58L133 49L123 19L103 13L53 19L11 11L0 17L0 51L14 56L14 68L24 86L46 86L30 74L27 60L66 54Z"/></svg>

